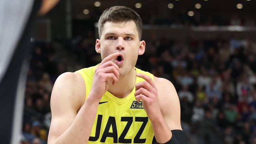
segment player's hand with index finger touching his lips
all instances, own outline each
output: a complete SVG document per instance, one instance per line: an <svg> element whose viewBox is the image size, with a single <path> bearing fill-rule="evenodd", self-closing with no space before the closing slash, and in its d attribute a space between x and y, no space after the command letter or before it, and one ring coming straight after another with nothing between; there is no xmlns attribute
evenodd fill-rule
<svg viewBox="0 0 256 144"><path fill-rule="evenodd" d="M105 57L100 65L95 69L92 89L90 93L97 100L100 100L104 93L109 88L109 82L115 85L119 79L119 67L111 60L117 57L120 53L110 54Z"/></svg>

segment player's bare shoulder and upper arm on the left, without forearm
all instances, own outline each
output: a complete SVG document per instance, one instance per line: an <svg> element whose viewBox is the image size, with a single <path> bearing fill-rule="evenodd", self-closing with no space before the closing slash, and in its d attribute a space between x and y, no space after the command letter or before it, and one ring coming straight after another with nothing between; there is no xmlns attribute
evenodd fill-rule
<svg viewBox="0 0 256 144"><path fill-rule="evenodd" d="M71 73L62 74L54 84L51 95L52 120L48 136L50 144L70 127L81 106L79 92L74 89L75 79Z"/></svg>

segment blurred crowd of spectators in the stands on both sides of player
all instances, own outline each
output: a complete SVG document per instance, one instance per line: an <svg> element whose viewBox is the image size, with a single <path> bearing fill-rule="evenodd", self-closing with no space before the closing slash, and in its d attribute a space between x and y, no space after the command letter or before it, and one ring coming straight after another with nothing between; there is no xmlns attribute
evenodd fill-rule
<svg viewBox="0 0 256 144"><path fill-rule="evenodd" d="M35 43L22 144L47 143L56 78L101 61L93 36ZM256 42L250 38L177 42L152 36L146 43L136 67L173 83L188 144L256 144Z"/></svg>

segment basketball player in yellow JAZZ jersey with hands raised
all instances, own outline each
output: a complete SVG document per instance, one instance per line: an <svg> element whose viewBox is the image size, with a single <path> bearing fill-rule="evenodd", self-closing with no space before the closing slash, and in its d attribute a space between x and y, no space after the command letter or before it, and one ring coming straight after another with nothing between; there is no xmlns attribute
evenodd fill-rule
<svg viewBox="0 0 256 144"><path fill-rule="evenodd" d="M139 15L110 7L98 26L102 62L56 80L48 143L186 143L173 84L135 67L146 45Z"/></svg>

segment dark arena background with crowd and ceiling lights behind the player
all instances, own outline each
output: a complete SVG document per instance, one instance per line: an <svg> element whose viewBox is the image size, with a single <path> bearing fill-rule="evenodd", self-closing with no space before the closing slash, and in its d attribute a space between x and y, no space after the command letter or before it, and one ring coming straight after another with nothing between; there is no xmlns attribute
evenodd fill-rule
<svg viewBox="0 0 256 144"><path fill-rule="evenodd" d="M256 144L254 0L60 1L33 28L20 143L47 143L53 84L101 61L96 22L116 5L142 17L136 66L174 84L188 144Z"/></svg>

